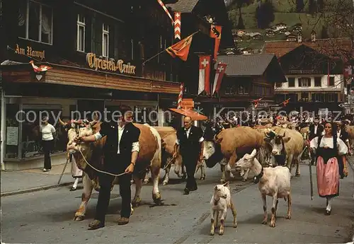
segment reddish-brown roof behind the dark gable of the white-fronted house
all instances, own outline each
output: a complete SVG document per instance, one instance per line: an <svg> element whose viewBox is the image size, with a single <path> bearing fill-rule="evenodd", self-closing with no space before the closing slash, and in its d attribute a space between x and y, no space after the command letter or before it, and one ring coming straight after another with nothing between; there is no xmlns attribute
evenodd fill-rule
<svg viewBox="0 0 354 244"><path fill-rule="evenodd" d="M275 54L277 57L282 57L288 52L295 50L295 48L306 45L312 49L325 54L329 57L342 56L348 57L352 50L350 38L331 38L331 39L316 39L315 42L303 41L266 41L263 47L263 53Z"/></svg>

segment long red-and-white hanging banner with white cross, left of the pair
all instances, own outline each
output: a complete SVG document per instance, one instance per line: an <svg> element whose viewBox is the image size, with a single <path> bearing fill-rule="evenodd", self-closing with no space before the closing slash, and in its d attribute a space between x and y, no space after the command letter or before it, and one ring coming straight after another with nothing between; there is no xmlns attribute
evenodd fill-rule
<svg viewBox="0 0 354 244"><path fill-rule="evenodd" d="M199 57L199 86L198 95L206 91L210 95L210 55Z"/></svg>

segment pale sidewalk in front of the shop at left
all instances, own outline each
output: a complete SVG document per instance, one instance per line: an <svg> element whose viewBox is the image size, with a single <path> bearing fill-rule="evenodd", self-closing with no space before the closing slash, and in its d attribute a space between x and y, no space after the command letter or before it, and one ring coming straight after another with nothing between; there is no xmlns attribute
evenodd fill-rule
<svg viewBox="0 0 354 244"><path fill-rule="evenodd" d="M57 182L64 165L53 165L49 172L43 172L42 168L1 171L1 197L58 187ZM72 163L68 163L59 186L73 184L71 168Z"/></svg>

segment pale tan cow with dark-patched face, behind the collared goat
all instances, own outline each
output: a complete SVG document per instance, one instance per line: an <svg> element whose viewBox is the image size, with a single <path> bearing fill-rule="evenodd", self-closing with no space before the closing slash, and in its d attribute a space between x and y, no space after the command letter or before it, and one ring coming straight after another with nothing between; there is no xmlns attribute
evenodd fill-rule
<svg viewBox="0 0 354 244"><path fill-rule="evenodd" d="M304 138L302 134L294 129L272 127L265 132L265 141L272 149L272 154L278 164L285 163L287 168L296 165L295 176L300 176L299 161L304 150Z"/></svg>

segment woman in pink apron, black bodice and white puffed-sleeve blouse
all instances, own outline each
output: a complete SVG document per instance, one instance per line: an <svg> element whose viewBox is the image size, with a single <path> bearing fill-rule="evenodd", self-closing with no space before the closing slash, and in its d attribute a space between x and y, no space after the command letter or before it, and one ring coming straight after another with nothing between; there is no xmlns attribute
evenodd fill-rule
<svg viewBox="0 0 354 244"><path fill-rule="evenodd" d="M337 137L336 124L326 122L324 136L316 136L310 142L317 156L317 190L319 197L326 197L326 215L331 214L333 198L339 195L338 157L348 153L348 147Z"/></svg>

